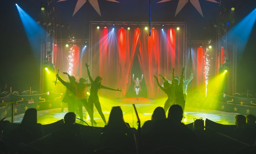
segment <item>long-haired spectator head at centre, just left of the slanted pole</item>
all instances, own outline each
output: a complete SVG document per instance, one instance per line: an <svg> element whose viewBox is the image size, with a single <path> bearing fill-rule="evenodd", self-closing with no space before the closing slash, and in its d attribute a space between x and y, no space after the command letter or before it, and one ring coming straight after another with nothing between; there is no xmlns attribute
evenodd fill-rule
<svg viewBox="0 0 256 154"><path fill-rule="evenodd" d="M109 121L107 125L115 126L115 125L122 125L126 123L124 122L123 111L120 106L112 107L110 114L109 114Z"/></svg>

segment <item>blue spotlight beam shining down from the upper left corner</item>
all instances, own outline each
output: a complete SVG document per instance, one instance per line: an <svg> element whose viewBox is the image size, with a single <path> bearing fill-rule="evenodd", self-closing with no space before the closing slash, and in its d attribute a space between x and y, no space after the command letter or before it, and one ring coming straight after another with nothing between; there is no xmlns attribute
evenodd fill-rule
<svg viewBox="0 0 256 154"><path fill-rule="evenodd" d="M40 51L41 41L45 41L46 31L39 24L37 24L36 21L29 16L29 14L21 9L19 5L15 5L17 6L19 16L26 31L29 44L34 53L36 53ZM40 52L38 54L40 54Z"/></svg>

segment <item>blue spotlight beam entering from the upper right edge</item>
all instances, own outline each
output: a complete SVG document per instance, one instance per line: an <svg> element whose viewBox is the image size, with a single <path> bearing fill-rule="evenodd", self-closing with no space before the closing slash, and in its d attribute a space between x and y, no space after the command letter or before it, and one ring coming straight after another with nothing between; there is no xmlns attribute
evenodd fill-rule
<svg viewBox="0 0 256 154"><path fill-rule="evenodd" d="M227 33L227 38L237 41L237 50L244 51L256 20L256 8Z"/></svg>

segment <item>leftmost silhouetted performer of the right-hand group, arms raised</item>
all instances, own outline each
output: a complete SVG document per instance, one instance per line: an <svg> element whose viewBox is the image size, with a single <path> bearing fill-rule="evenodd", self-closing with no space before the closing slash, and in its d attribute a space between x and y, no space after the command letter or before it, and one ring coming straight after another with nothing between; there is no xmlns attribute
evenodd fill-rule
<svg viewBox="0 0 256 154"><path fill-rule="evenodd" d="M174 68L172 69L174 71ZM168 81L166 81L161 74L159 76L164 80L164 87L162 87L159 84L158 78L154 75L154 78L157 80L158 87L168 96L167 100L164 103L164 111L167 112L168 108L172 106L173 104L176 104L175 102L175 92L174 92L174 86L170 85Z"/></svg>

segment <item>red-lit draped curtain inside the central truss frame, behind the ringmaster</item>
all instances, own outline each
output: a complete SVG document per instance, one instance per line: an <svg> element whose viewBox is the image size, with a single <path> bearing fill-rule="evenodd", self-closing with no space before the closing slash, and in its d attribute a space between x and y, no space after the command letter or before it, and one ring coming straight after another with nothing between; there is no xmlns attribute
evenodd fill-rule
<svg viewBox="0 0 256 154"><path fill-rule="evenodd" d="M171 80L172 68L175 68L175 76L180 76L186 61L185 24L153 24L151 36L148 36L146 24L91 22L89 52L92 58L92 78L101 76L102 85L122 90L122 93L101 90L99 94L104 97L124 98L130 86L134 86L132 74L134 73L135 78L141 78L142 73L146 85L142 87L142 91L147 90L146 97L164 96L153 75L158 76L160 73ZM179 30L176 29L178 26ZM138 62L134 62L134 59ZM138 65L135 66L134 63ZM139 68L140 74L131 72L133 67ZM159 78L159 82L162 84L163 80Z"/></svg>

